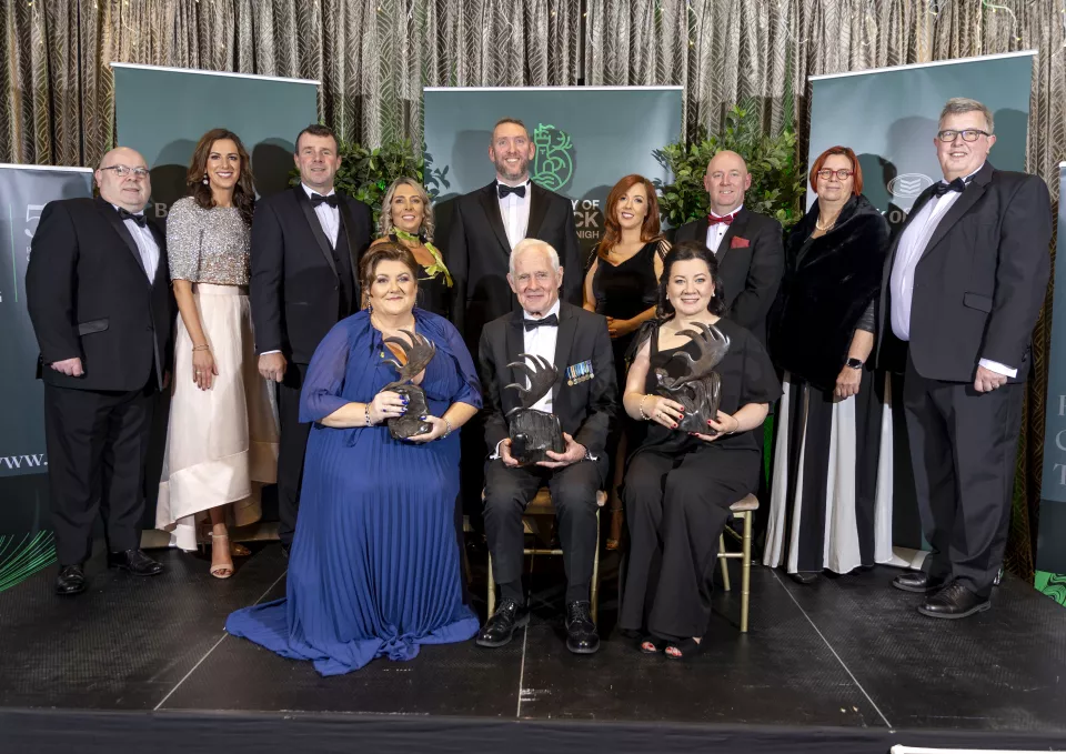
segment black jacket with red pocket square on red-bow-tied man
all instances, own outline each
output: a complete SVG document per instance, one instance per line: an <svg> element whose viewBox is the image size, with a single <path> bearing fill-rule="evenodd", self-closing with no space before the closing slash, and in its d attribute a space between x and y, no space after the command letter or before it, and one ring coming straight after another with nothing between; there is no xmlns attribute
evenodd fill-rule
<svg viewBox="0 0 1066 754"><path fill-rule="evenodd" d="M686 222L677 229L674 242L707 242L707 219ZM747 247L734 245L744 239ZM766 314L777 295L785 271L784 234L781 223L765 214L741 208L722 238L718 251L718 279L728 306L726 316L751 331L766 345Z"/></svg>

